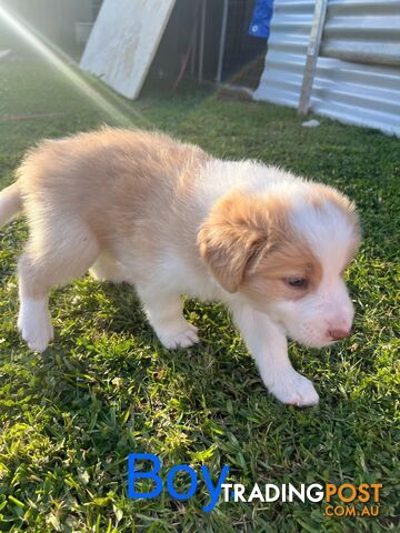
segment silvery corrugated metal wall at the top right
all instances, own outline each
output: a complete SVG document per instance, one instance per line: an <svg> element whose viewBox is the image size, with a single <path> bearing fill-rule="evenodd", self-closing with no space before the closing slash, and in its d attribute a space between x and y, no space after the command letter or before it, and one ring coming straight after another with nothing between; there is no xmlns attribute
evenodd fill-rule
<svg viewBox="0 0 400 533"><path fill-rule="evenodd" d="M276 0L257 100L298 105L313 10L314 0ZM311 110L400 135L398 0L329 0Z"/></svg>

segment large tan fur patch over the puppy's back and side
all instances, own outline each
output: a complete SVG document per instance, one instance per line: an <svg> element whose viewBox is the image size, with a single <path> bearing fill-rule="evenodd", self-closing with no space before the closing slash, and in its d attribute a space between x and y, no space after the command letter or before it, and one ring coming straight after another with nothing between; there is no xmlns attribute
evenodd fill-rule
<svg viewBox="0 0 400 533"><path fill-rule="evenodd" d="M160 241L196 254L194 177L208 160L193 144L149 131L103 128L44 141L18 170L30 249L40 253L47 235L47 247L57 250L61 232L47 228L81 221L101 252L119 257L128 245L137 250L143 281L150 281L148 264Z"/></svg>

